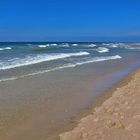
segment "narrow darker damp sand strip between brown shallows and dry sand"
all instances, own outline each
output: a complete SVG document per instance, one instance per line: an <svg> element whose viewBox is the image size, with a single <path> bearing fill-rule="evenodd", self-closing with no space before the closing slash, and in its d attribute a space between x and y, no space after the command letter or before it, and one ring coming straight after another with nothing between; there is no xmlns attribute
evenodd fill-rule
<svg viewBox="0 0 140 140"><path fill-rule="evenodd" d="M61 140L60 138L61 135L74 130L80 124L82 119L93 114L95 109L101 107L106 100L110 99L118 88L122 88L125 85L127 85L134 77L134 75L137 73L137 71L140 71L139 67L134 69L133 71L130 71L122 79L115 82L109 88L101 92L100 95L98 95L96 98L93 99L91 104L89 104L86 108L79 111L78 114L76 114L76 116L74 116L64 128L60 129L60 131L57 131L52 137L48 138L47 140Z"/></svg>

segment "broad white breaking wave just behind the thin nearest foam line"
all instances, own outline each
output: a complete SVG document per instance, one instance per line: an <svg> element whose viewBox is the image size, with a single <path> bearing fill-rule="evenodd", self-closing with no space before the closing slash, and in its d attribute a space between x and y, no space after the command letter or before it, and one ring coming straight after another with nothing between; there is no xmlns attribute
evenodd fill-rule
<svg viewBox="0 0 140 140"><path fill-rule="evenodd" d="M45 62L45 61L72 57L72 56L83 56L83 55L89 55L89 53L88 52L77 52L77 53L60 53L60 54L42 54L42 55L37 55L37 56L27 56L23 59L15 58L15 59L12 59L12 61L10 61L10 62L1 62L0 70L27 66L27 65Z"/></svg>

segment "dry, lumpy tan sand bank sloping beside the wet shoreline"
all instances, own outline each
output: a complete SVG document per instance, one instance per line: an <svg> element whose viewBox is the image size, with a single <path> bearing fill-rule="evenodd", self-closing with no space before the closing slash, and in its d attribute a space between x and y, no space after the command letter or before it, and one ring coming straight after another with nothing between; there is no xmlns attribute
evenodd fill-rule
<svg viewBox="0 0 140 140"><path fill-rule="evenodd" d="M140 70L61 140L140 140Z"/></svg>

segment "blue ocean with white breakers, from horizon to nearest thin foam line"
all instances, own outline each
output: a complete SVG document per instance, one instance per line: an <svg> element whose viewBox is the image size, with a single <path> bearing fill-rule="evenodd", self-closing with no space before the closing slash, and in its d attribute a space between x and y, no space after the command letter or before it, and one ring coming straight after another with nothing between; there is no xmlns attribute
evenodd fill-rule
<svg viewBox="0 0 140 140"><path fill-rule="evenodd" d="M0 43L0 81L128 57L140 60L140 43Z"/></svg>

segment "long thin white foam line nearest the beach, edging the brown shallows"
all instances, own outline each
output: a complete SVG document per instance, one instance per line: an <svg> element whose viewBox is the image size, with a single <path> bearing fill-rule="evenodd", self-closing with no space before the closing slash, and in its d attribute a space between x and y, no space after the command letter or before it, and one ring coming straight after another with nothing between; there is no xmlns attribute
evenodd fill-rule
<svg viewBox="0 0 140 140"><path fill-rule="evenodd" d="M27 77L27 76L33 76L33 75L37 75L37 74L43 74L43 73L46 73L46 72L61 70L61 69L64 69L64 68L72 68L72 67L80 66L80 65L83 65L83 64L89 64L89 63L101 62L101 61L107 61L107 60L115 60L115 59L121 59L121 58L122 57L119 56L119 55L106 56L106 57L95 57L95 58L90 59L90 60L86 60L86 61L82 61L82 62L76 62L76 63L73 63L73 64L66 64L66 65L56 67L56 68L53 68L53 69L50 69L50 70L38 71L38 72L35 72L35 73L30 73L30 74L22 75L22 76L18 76L18 77L1 79L0 82L9 81L9 80L16 80L16 79L24 78L24 77Z"/></svg>

